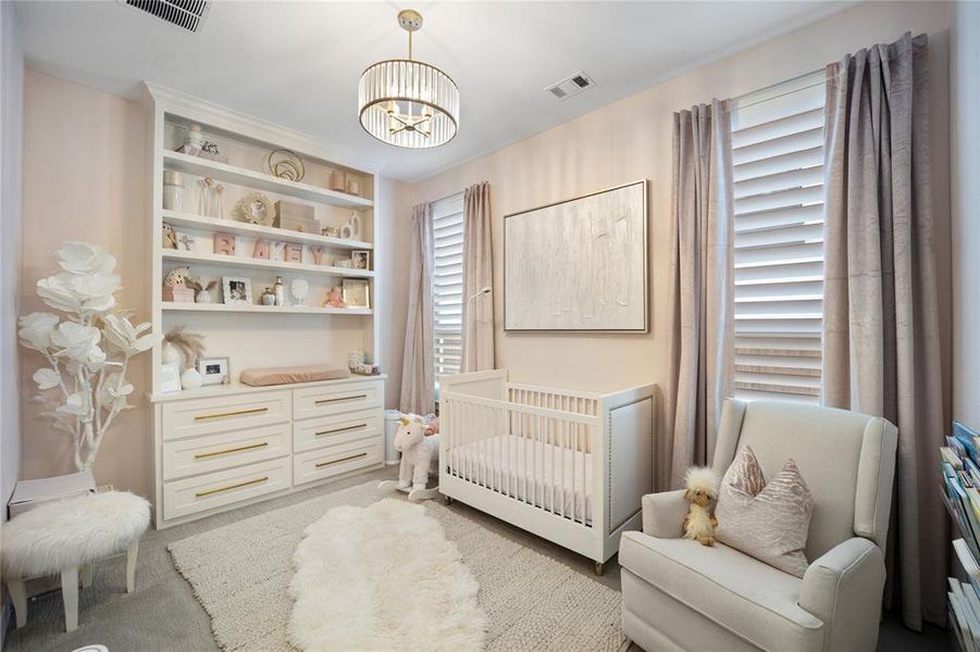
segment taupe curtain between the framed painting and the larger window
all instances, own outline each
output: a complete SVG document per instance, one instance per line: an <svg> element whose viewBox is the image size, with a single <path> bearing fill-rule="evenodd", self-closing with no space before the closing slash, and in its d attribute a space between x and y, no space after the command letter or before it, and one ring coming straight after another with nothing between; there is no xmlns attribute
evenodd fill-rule
<svg viewBox="0 0 980 652"><path fill-rule="evenodd" d="M715 451L731 393L732 140L728 102L673 115L671 380L655 482L678 487Z"/></svg>

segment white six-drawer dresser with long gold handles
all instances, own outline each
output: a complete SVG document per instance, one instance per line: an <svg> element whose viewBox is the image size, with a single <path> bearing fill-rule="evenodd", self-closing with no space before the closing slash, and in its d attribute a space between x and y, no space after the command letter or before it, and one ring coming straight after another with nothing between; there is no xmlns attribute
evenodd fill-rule
<svg viewBox="0 0 980 652"><path fill-rule="evenodd" d="M153 401L158 528L384 464L384 376Z"/></svg>

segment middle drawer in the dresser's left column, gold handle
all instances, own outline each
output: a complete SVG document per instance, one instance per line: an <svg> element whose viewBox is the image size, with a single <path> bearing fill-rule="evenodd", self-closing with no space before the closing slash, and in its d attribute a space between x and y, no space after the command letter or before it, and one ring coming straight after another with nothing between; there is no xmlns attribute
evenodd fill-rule
<svg viewBox="0 0 980 652"><path fill-rule="evenodd" d="M191 437L163 443L163 479L252 464L288 455L293 450L289 423Z"/></svg>

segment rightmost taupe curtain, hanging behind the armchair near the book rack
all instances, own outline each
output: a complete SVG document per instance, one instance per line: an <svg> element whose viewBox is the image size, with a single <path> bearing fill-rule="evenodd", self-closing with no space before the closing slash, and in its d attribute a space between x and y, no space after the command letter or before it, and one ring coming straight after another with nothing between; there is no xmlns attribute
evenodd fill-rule
<svg viewBox="0 0 980 652"><path fill-rule="evenodd" d="M827 67L823 402L898 427L886 602L945 620L944 419L926 36Z"/></svg>

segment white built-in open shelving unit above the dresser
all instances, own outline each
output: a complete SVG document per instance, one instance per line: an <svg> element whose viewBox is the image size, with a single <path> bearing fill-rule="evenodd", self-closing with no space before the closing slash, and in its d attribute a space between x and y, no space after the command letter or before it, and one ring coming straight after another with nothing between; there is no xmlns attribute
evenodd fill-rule
<svg viewBox="0 0 980 652"><path fill-rule="evenodd" d="M187 330L202 333L207 337L208 354L228 356L233 372L246 366L275 366L276 363L323 362L343 366L347 351L379 350L377 319L379 296L374 284L376 187L374 161L325 145L309 136L240 114L223 106L176 93L168 89L146 86L145 102L150 112L150 143L152 164L152 196L150 198L150 261L152 264L149 288L152 296L152 322L159 333L175 325ZM191 124L201 126L204 138L219 145L226 161L214 161L178 152L186 141ZM276 149L296 152L303 162L306 175L300 181L273 176L268 170L268 155ZM358 196L330 188L331 174L343 171L347 178L358 181ZM185 175L183 206L179 211L163 208L163 172L177 171ZM211 177L224 187L221 215L204 215L199 205L198 179ZM273 201L286 200L312 206L322 226L339 227L355 213L359 215L361 231L357 238L330 237L300 233L273 226L245 222L237 211L238 200L259 191ZM189 250L164 249L163 225L173 227L178 235L193 239ZM231 234L236 239L232 255L214 253L215 234ZM252 258L257 240L288 242L303 249L302 262L264 260ZM323 252L324 260L314 264L312 248ZM355 250L369 251L370 269L337 266L337 262L350 258ZM211 303L175 303L163 301L163 280L178 265L188 265L195 277L221 281L226 276L245 277L251 281L252 304L222 303L221 286L211 292ZM286 284L297 277L305 278L310 294L305 305L291 301L289 305L270 308L260 304L260 297L271 287L276 276ZM331 288L340 286L345 278L362 278L369 281L371 306L323 306ZM293 330L296 336L283 333L280 315L308 315L322 319L311 326L303 319ZM222 322L224 319L224 322ZM310 329L320 334L310 337ZM225 333L226 331L226 333ZM288 341L283 339L288 335ZM305 339L310 341L305 342ZM224 340L226 344L220 344ZM273 355L272 350L278 351ZM152 394L160 394L160 363L162 349L153 349Z"/></svg>

